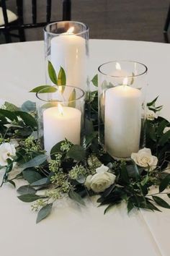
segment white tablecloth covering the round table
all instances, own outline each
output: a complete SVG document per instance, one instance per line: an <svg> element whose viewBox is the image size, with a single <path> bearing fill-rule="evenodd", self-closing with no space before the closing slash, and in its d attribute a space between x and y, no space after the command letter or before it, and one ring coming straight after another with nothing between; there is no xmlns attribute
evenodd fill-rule
<svg viewBox="0 0 170 256"><path fill-rule="evenodd" d="M160 95L162 114L170 119L170 46L125 40L90 40L91 78L100 64L120 59L140 61L148 67L148 100ZM43 42L13 43L0 46L0 98L17 105L28 93L45 83ZM125 205L106 215L104 208L86 202L81 208L70 200L58 202L51 216L35 224L36 213L17 199L10 184L0 189L1 256L157 256L170 255L170 210L151 213Z"/></svg>

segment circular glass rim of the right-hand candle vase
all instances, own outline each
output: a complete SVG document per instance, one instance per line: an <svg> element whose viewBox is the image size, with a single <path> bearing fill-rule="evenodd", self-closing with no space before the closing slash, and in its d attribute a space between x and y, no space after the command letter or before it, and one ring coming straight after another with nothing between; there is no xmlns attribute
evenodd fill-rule
<svg viewBox="0 0 170 256"><path fill-rule="evenodd" d="M129 76L116 76L116 75L112 75L112 74L105 74L104 72L102 72L101 71L101 68L104 66L104 65L106 65L106 64L110 64L110 63L121 63L121 62L131 62L131 63L137 63L137 64L140 64L140 66L143 66L144 68L145 68L145 71L144 72L141 72L140 74L134 74L134 75L129 75ZM140 77L141 75L143 75L143 74L146 74L147 72L148 72L148 67L146 67L146 65L145 64L143 64L143 63L141 63L141 62L138 62L138 61L130 61L130 60L115 60L115 61L107 61L107 62L105 62L105 63L103 63L103 64L101 64L99 67L98 67L98 71L99 71L99 73L101 73L101 74L104 74L105 76L107 76L107 77L116 77L116 78L118 78L118 77Z"/></svg>

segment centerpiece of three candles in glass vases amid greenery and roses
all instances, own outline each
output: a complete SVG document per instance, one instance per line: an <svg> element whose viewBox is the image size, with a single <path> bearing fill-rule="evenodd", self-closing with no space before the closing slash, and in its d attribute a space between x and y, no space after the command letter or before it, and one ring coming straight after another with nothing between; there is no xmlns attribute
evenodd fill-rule
<svg viewBox="0 0 170 256"><path fill-rule="evenodd" d="M90 92L88 76L86 86L78 72L84 69L88 29L68 23L51 25L53 31L46 28L48 56L65 47L58 59L67 61L60 67L55 54L47 59L50 82L31 90L37 107L31 101L21 107L1 104L1 185L25 181L17 188L18 198L32 202L37 223L63 197L85 205L84 197L98 195L99 205L106 205L104 213L121 202L127 203L128 213L133 208L170 208L161 197L170 197L170 123L158 116L162 106L156 106L157 98L145 101L146 66L134 61L104 64L99 79L95 75L91 80L98 91ZM80 27L86 28L85 39ZM55 30L61 35L56 37ZM66 58L68 48L75 51ZM76 70L72 77L71 59ZM68 85L69 79L76 82Z"/></svg>

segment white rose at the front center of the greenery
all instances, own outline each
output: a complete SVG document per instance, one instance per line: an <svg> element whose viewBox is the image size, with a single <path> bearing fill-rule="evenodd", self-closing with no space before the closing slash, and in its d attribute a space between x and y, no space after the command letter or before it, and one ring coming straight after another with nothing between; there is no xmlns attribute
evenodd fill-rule
<svg viewBox="0 0 170 256"><path fill-rule="evenodd" d="M97 174L87 176L84 183L87 189L99 193L110 187L115 182L116 176L107 172L108 169L107 166L102 165L96 169Z"/></svg>

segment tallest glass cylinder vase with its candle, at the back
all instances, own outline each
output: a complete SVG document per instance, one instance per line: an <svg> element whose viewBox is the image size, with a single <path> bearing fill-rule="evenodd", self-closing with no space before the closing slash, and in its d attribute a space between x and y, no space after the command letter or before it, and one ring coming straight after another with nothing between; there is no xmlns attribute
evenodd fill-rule
<svg viewBox="0 0 170 256"><path fill-rule="evenodd" d="M44 29L46 83L48 61L53 64L58 75L61 67L66 72L66 85L73 85L84 91L89 90L89 27L74 21L54 22Z"/></svg>

